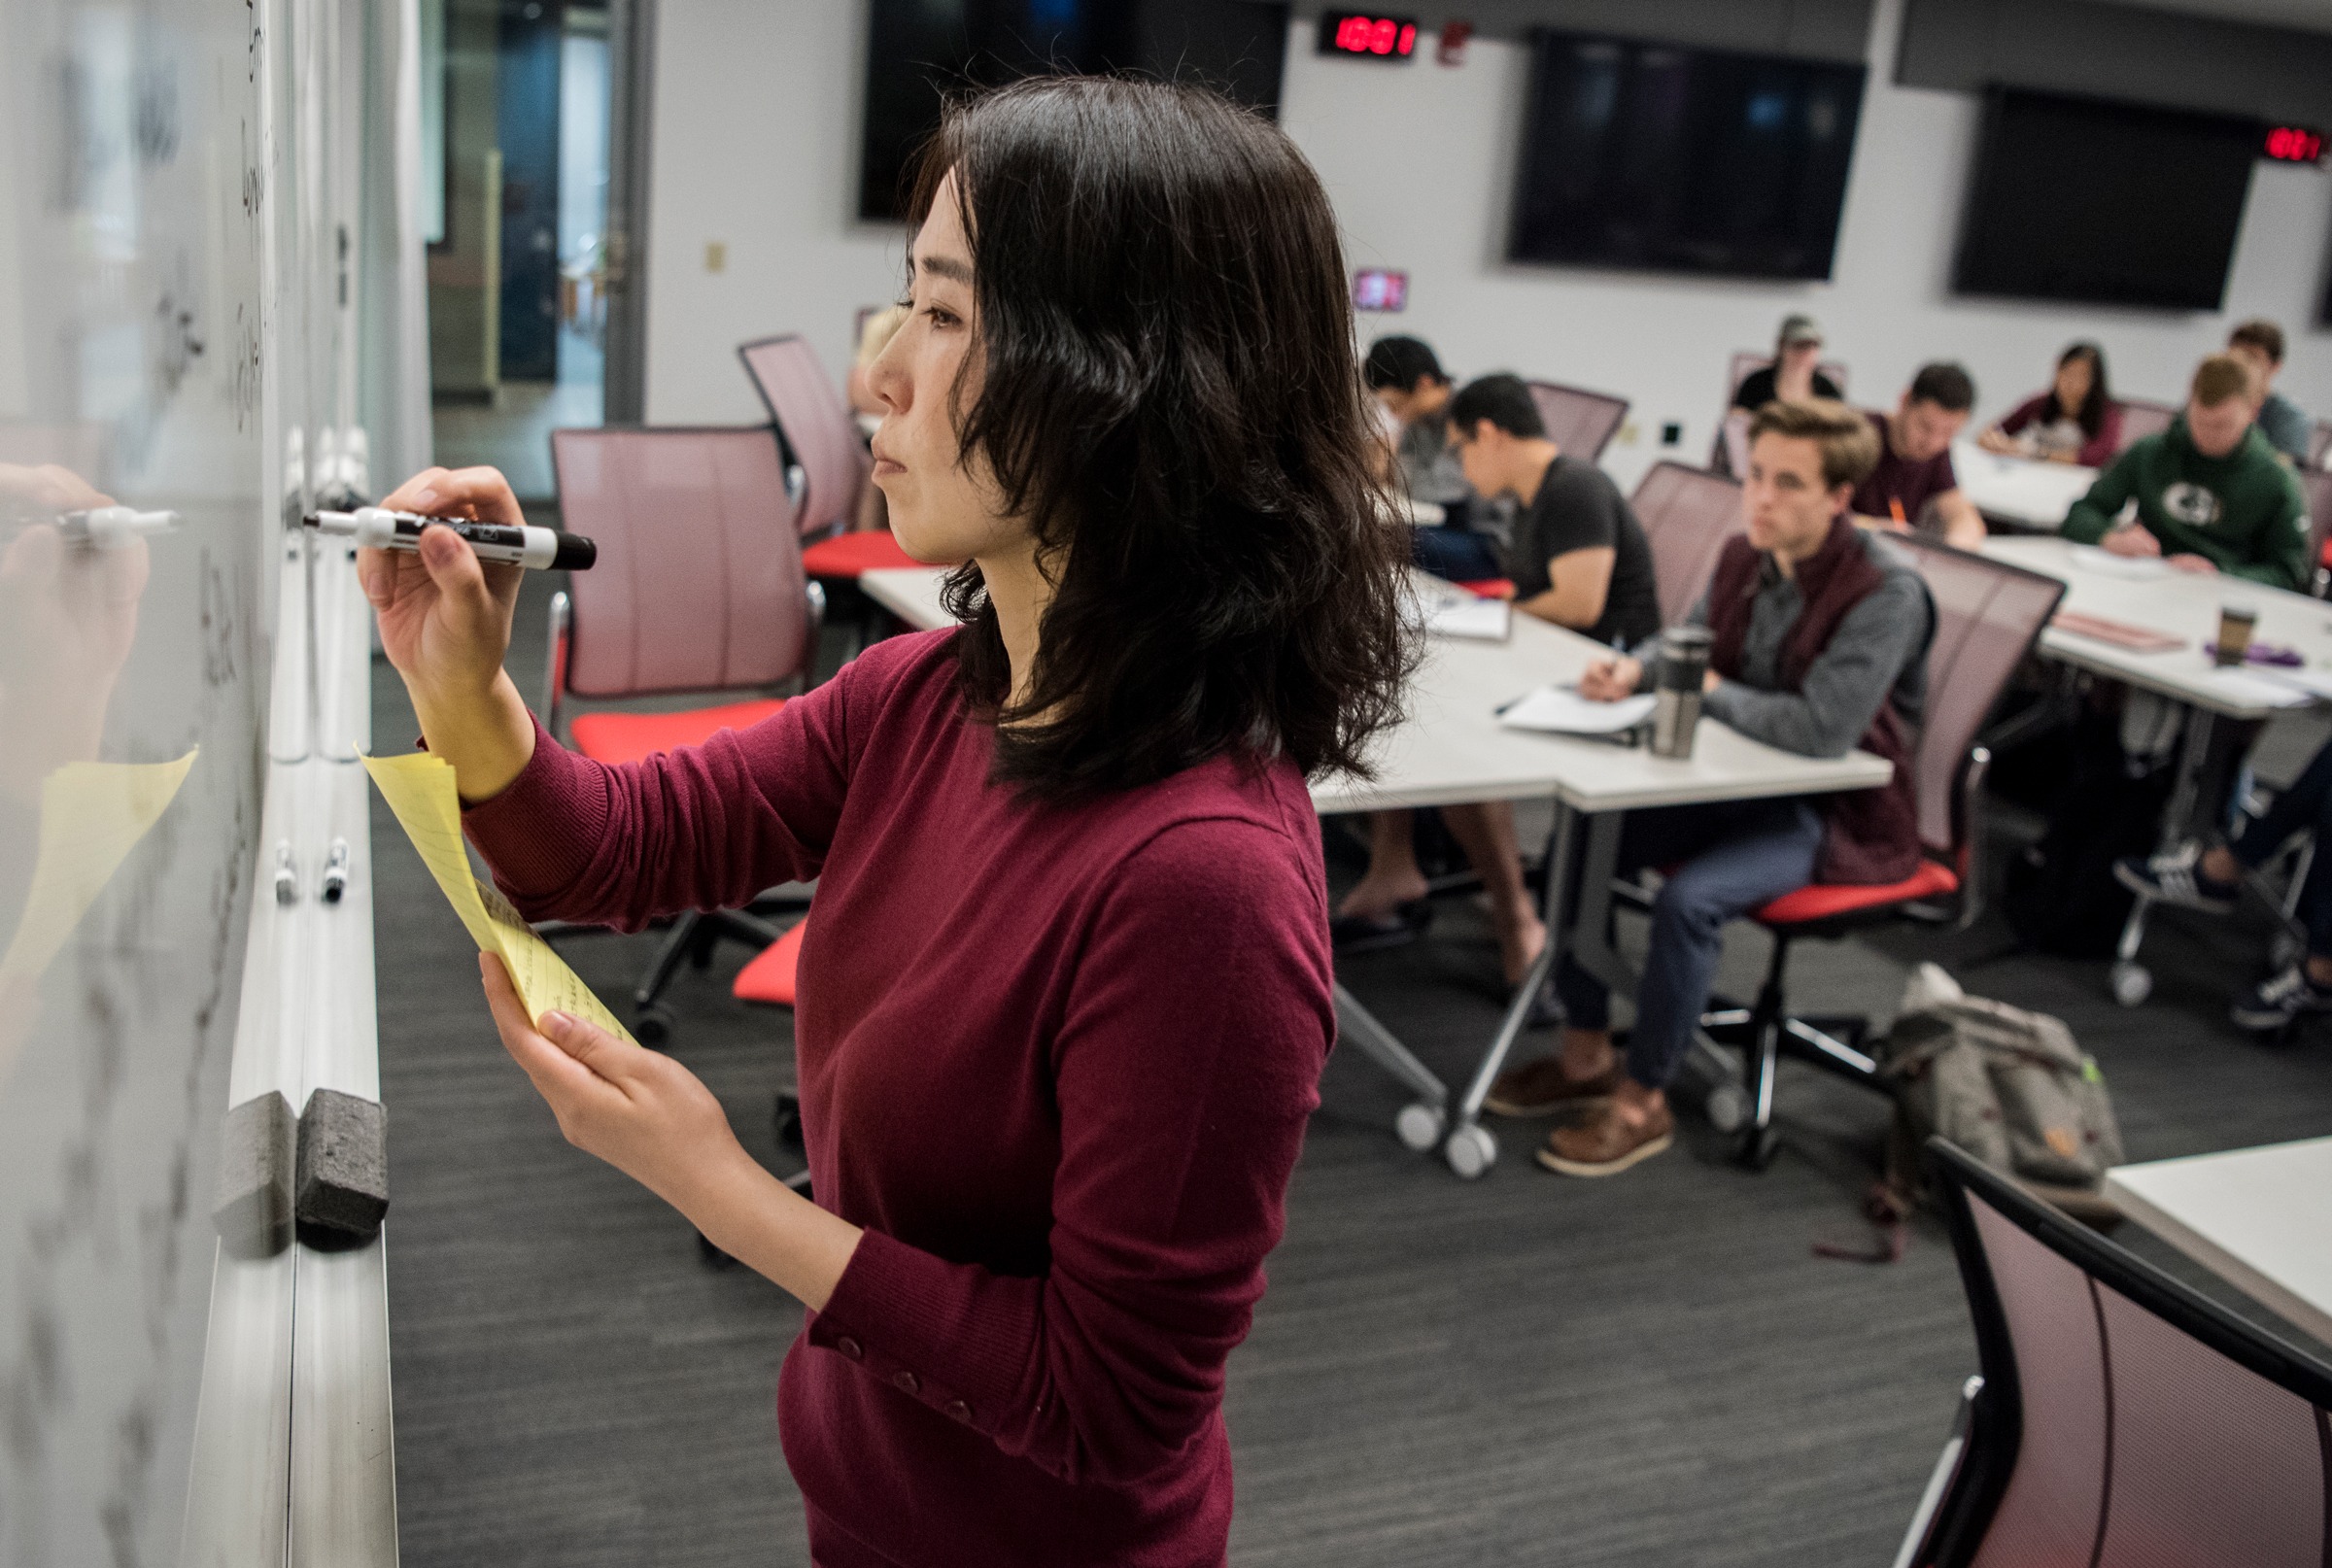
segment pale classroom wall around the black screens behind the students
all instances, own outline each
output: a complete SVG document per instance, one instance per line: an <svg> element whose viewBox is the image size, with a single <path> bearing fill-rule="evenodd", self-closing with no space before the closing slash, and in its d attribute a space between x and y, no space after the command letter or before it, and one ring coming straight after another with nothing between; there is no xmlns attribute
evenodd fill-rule
<svg viewBox="0 0 2332 1568"><path fill-rule="evenodd" d="M865 7L695 0L660 7L648 294L648 418L760 415L735 343L800 329L837 376L858 306L898 282L902 233L856 224L851 180ZM1504 264L1527 51L1476 40L1460 68L1313 54L1292 23L1280 124L1327 182L1355 266L1411 275L1409 310L1362 336L1413 331L1458 373L1516 369L1635 399L1604 455L1623 483L1660 455L1707 457L1733 350L1812 310L1856 401L1891 404L1926 357L1959 357L1980 413L2047 383L2075 336L2106 345L2115 387L2176 401L2199 355L2243 315L2292 334L2283 385L2332 415L2332 338L2309 329L2332 236L2332 175L2260 166L2222 315L1954 299L1952 245L1980 100L1894 84L1901 0L1873 9L1863 100L1831 282L1763 285ZM725 243L725 271L704 245ZM1684 439L1658 448L1660 425Z"/></svg>

